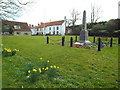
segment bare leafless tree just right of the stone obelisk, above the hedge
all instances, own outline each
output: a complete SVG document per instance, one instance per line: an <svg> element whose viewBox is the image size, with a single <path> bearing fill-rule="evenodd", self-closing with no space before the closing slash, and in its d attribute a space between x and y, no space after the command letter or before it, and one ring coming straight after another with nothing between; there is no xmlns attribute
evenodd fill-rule
<svg viewBox="0 0 120 90"><path fill-rule="evenodd" d="M101 7L91 5L91 23L96 23L101 18Z"/></svg>

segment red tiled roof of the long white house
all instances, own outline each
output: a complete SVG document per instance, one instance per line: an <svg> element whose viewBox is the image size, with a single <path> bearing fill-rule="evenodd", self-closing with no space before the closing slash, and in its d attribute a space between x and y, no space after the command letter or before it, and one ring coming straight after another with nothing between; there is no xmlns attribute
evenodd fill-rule
<svg viewBox="0 0 120 90"><path fill-rule="evenodd" d="M37 28L43 28L43 27L54 26L54 25L62 25L63 22L64 22L64 20L42 23Z"/></svg>

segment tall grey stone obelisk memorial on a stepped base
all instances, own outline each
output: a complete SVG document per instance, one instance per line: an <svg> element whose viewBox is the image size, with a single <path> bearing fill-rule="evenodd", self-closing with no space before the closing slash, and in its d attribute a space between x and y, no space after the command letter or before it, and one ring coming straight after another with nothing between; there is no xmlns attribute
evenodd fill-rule
<svg viewBox="0 0 120 90"><path fill-rule="evenodd" d="M80 44L92 44L88 40L88 31L87 31L87 24L86 24L86 11L83 12L83 20L82 20L82 30L80 32Z"/></svg>

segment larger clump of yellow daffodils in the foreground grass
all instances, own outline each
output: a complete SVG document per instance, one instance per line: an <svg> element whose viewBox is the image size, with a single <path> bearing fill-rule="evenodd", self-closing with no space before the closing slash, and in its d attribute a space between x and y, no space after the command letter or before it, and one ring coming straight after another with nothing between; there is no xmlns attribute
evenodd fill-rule
<svg viewBox="0 0 120 90"><path fill-rule="evenodd" d="M57 76L59 68L59 66L50 64L49 60L43 61L37 68L29 65L29 67L27 67L26 75L27 78L30 79L30 81L35 82L36 80L39 80L41 75L46 75L48 77Z"/></svg>

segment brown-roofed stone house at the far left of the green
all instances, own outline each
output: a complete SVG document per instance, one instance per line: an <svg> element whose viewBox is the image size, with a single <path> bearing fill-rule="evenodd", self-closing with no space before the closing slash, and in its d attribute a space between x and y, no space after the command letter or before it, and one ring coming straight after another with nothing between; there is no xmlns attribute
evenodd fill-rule
<svg viewBox="0 0 120 90"><path fill-rule="evenodd" d="M26 22L1 20L2 35L31 35L31 30Z"/></svg>

